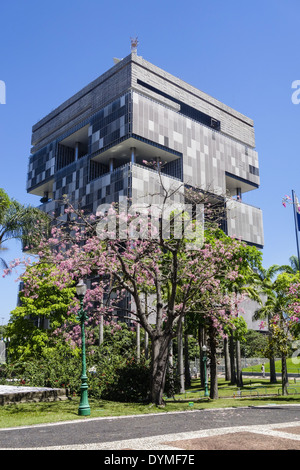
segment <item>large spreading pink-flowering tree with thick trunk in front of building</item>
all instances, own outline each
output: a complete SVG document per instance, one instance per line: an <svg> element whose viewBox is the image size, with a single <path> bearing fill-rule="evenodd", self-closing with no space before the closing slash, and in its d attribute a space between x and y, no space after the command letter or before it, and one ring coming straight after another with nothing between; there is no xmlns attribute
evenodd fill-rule
<svg viewBox="0 0 300 470"><path fill-rule="evenodd" d="M238 302L226 292L224 280L239 277L241 243L229 237L214 238L213 230L193 249L184 236L165 239L158 231L150 238L141 233L139 214L127 216L126 227L132 229L134 224L140 238L124 239L116 233L111 236L111 214L86 216L71 206L66 213L68 222L57 221L51 237L39 244L39 259L24 279L24 295L39 295L36 277L46 263L58 289L74 286L79 279L89 280L85 308L93 318L117 313L121 300L129 296L126 314L134 315L151 339L150 400L160 405L169 344L186 313L193 310L205 315L211 337L212 332L222 334L224 325L236 316ZM119 214L117 225L121 223L124 217ZM99 236L99 226L105 236ZM151 304L145 302L145 293ZM69 315L76 308L71 304Z"/></svg>

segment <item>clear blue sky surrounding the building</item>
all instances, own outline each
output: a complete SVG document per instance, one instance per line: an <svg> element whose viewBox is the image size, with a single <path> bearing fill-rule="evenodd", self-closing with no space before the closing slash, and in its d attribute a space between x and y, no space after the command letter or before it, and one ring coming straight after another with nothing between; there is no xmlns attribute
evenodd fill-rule
<svg viewBox="0 0 300 470"><path fill-rule="evenodd" d="M25 204L31 128L113 66L138 54L254 120L261 187L245 198L264 214L264 266L296 254L292 208L300 196L299 0L10 0L1 2L0 187ZM7 245L7 261L20 256ZM16 276L0 277L0 324L16 305Z"/></svg>

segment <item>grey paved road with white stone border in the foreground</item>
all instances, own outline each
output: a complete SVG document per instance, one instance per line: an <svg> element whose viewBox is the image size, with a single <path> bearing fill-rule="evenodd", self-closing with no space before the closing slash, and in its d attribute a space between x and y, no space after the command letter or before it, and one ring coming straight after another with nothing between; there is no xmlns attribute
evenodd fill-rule
<svg viewBox="0 0 300 470"><path fill-rule="evenodd" d="M288 427L294 430L293 435L286 434ZM264 434L265 437L273 439L270 448L276 448L278 443L282 445L282 442L284 444L292 442L294 443L292 448L300 449L300 405L191 410L119 418L83 418L80 421L60 424L2 429L0 450L197 449L200 445L199 438L203 438L201 442L206 442L205 439L213 437L216 445L216 436L221 439L229 433L231 436L232 433L236 436L240 433L241 443L245 433L249 432L257 439L257 433L260 433L258 443L255 445L261 446L262 441L267 442L267 439L261 437L261 434ZM178 447L176 442L183 444ZM193 444L189 444L190 442ZM252 442L249 435L245 442L248 442L248 445ZM220 446L222 448L222 445L227 448L225 441L219 445L219 448Z"/></svg>

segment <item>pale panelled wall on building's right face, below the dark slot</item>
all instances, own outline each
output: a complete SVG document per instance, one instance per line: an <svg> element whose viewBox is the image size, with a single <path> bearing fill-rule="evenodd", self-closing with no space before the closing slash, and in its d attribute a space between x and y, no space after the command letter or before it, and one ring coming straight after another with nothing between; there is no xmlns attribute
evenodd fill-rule
<svg viewBox="0 0 300 470"><path fill-rule="evenodd" d="M258 169L255 150L138 93L133 93L132 127L135 134L182 153L187 184L225 195L229 172L253 189L259 185L259 176L250 171Z"/></svg>

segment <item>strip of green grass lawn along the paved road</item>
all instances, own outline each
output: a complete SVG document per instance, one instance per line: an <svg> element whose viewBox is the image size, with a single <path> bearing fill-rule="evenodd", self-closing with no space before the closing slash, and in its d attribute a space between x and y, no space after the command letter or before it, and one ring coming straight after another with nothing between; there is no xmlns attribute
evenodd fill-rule
<svg viewBox="0 0 300 470"><path fill-rule="evenodd" d="M203 410L208 408L225 408L241 406L262 406L267 404L300 404L300 385L297 390L292 390L293 382L290 381L291 394L287 397L278 395L281 384L271 385L268 380L244 379L244 387L241 396L238 396L237 387L230 386L228 382L219 379L219 399L209 400L203 398L203 390L200 390L199 380L192 381L192 386L181 395L176 395L175 400L169 398L164 407L156 407L141 403L118 403L106 400L89 399L91 415L89 417L78 416L79 398L58 402L43 403L18 403L0 406L0 428L27 426L74 419L85 420L98 417L125 416L147 413L170 413L174 411ZM255 387L258 388L256 391ZM200 390L200 391L199 391ZM265 393L273 396L264 396Z"/></svg>

